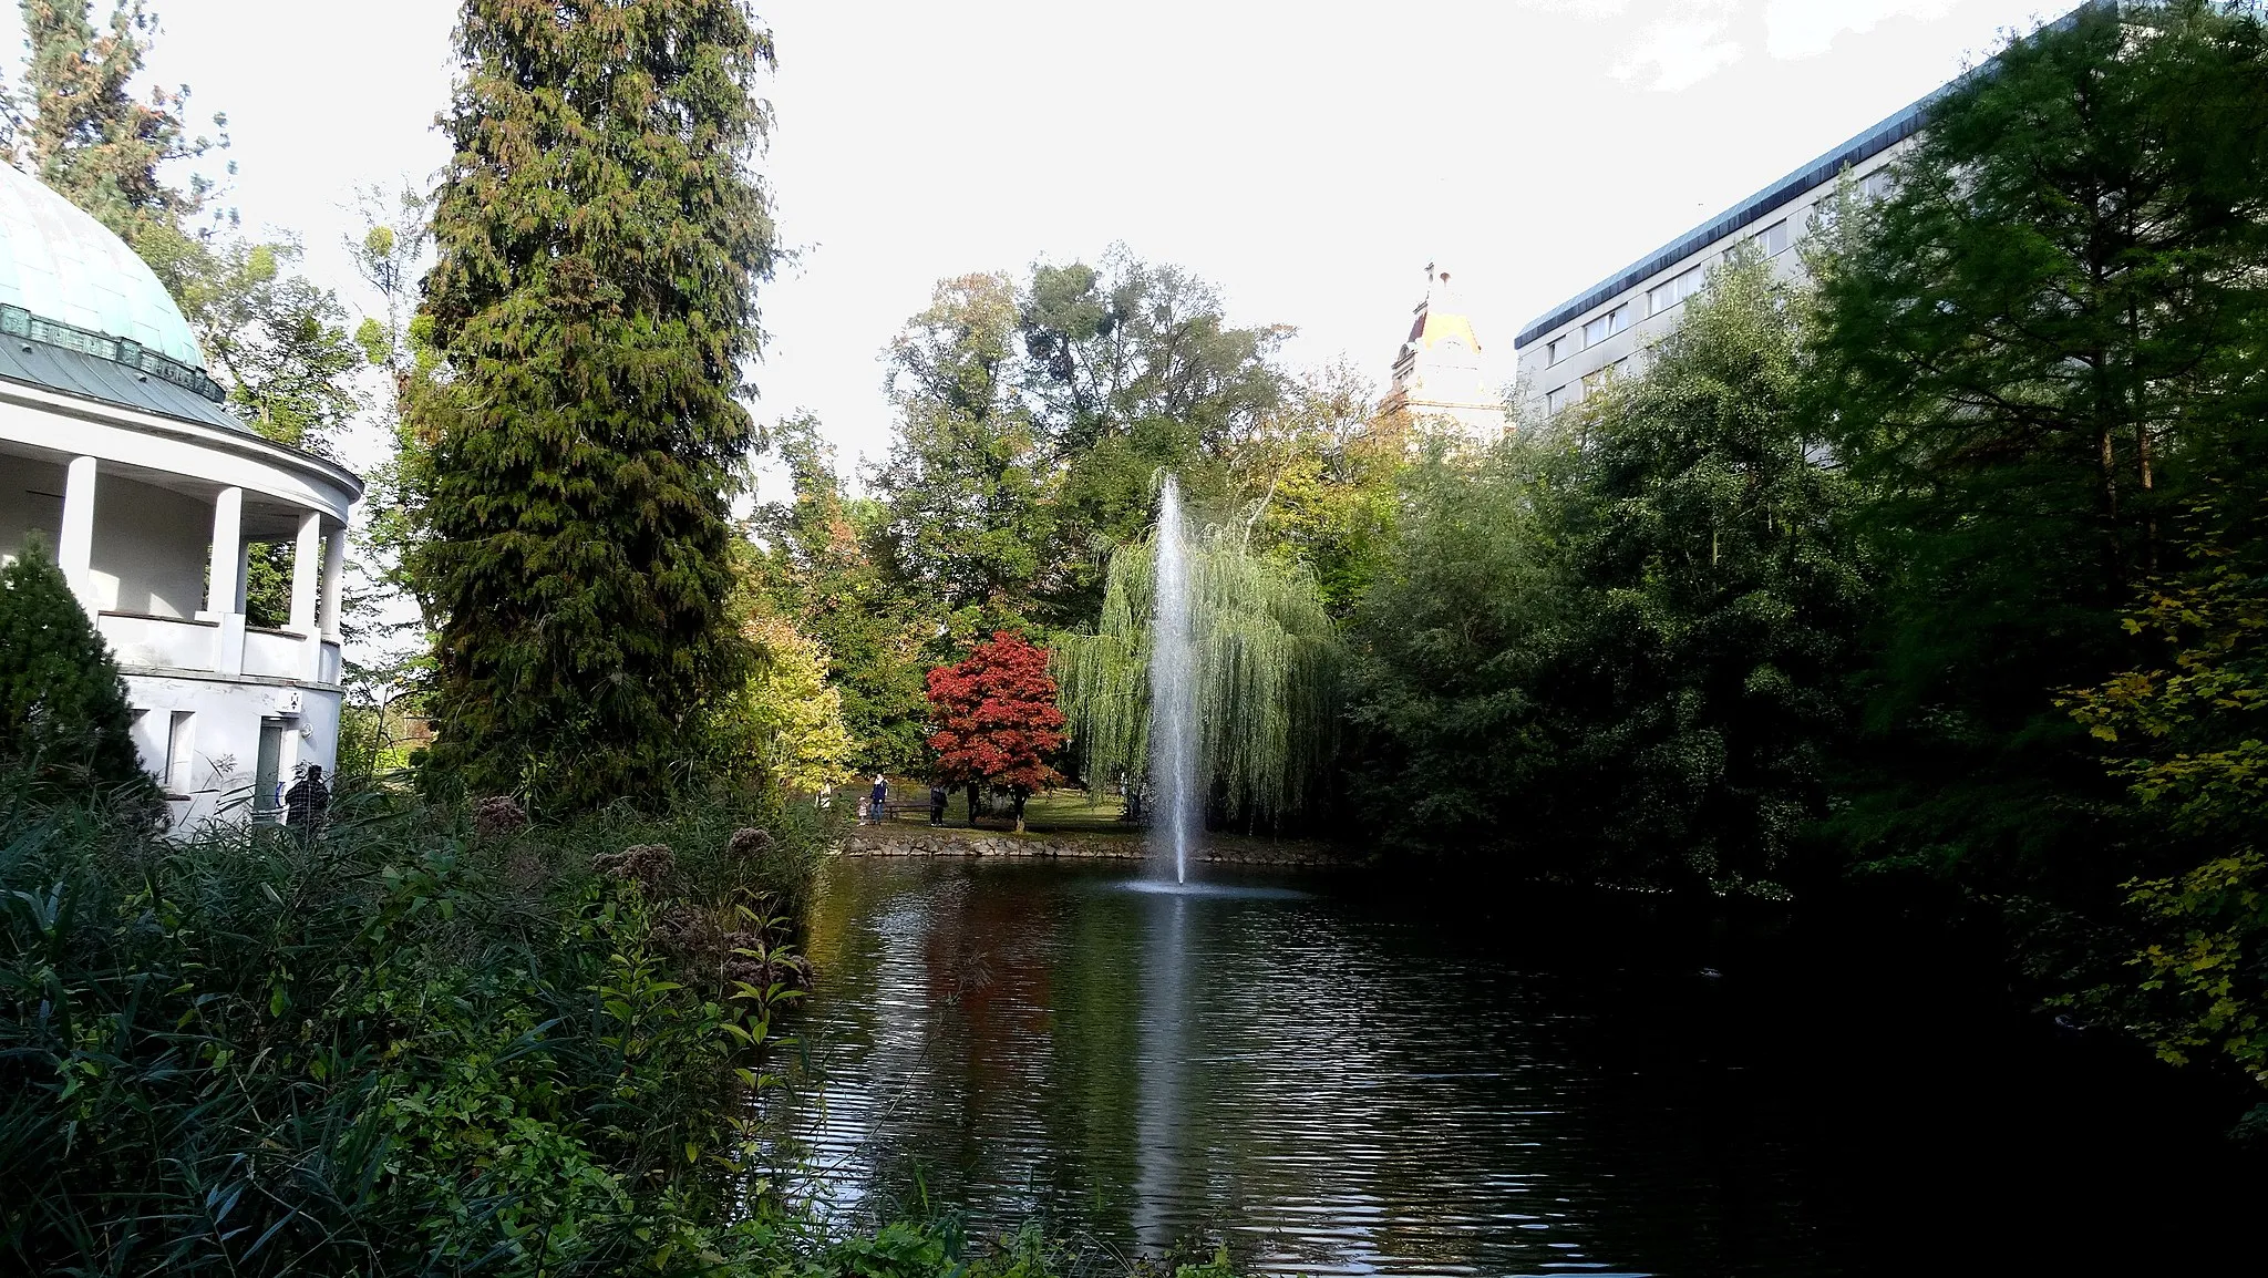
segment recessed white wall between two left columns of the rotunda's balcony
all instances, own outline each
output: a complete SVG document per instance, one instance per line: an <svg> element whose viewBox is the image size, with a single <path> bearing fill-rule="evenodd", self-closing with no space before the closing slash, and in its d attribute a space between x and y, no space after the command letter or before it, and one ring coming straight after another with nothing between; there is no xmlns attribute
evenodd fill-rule
<svg viewBox="0 0 2268 1278"><path fill-rule="evenodd" d="M120 474L95 474L95 606L156 617L195 617L213 506Z"/></svg>

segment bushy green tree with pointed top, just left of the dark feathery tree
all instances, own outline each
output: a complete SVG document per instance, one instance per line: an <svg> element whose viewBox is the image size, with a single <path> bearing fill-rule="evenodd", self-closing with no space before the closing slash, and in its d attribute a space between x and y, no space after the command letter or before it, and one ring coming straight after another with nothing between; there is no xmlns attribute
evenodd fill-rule
<svg viewBox="0 0 2268 1278"><path fill-rule="evenodd" d="M1826 815L1871 570L1801 413L1803 325L1769 266L1733 259L1583 411L1581 597L1540 692L1581 722L1563 763L1592 804L1563 833L1594 829L1608 878L1778 892Z"/></svg>

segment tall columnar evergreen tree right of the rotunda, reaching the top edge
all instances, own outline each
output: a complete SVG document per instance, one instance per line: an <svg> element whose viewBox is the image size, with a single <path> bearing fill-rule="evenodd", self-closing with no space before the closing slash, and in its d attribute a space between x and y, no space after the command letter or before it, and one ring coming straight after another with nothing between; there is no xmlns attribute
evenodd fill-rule
<svg viewBox="0 0 2268 1278"><path fill-rule="evenodd" d="M739 0L467 0L420 395L435 774L651 794L744 679L728 497L776 259L751 173L771 36Z"/></svg>

